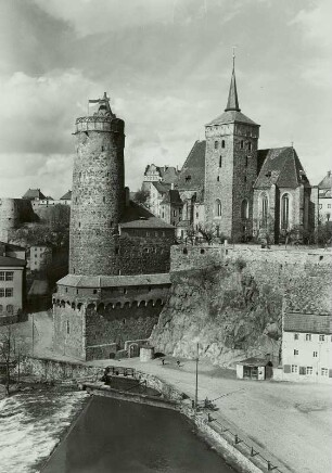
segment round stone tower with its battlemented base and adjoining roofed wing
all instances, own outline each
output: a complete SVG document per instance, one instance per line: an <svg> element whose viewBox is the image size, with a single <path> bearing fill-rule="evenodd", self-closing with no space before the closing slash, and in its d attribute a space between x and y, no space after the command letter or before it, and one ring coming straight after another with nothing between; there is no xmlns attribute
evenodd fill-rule
<svg viewBox="0 0 332 473"><path fill-rule="evenodd" d="M77 118L69 274L53 295L54 349L108 358L150 336L165 304L175 229L130 202L124 183L125 124L104 94ZM137 345L137 343L136 343Z"/></svg>

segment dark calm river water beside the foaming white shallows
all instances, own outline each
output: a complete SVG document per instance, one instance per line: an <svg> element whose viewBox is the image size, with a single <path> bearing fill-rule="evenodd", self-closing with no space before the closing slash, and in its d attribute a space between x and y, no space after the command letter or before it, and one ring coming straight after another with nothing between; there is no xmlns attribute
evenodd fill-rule
<svg viewBox="0 0 332 473"><path fill-rule="evenodd" d="M231 473L179 413L95 396L42 473Z"/></svg>

